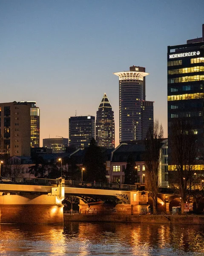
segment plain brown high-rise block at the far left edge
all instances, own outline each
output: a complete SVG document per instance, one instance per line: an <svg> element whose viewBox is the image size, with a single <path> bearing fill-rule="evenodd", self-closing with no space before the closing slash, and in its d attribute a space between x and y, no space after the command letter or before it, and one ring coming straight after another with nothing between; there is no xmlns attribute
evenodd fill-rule
<svg viewBox="0 0 204 256"><path fill-rule="evenodd" d="M30 156L31 108L26 102L0 103L0 153Z"/></svg>

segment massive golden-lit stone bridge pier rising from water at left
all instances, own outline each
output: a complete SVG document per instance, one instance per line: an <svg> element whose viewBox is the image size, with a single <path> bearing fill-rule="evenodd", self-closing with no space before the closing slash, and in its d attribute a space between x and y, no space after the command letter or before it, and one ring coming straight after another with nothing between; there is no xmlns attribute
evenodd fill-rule
<svg viewBox="0 0 204 256"><path fill-rule="evenodd" d="M46 186L50 191L46 195L22 192L20 185L11 184L7 188L0 193L0 223L63 224L64 179L59 179L58 186Z"/></svg>

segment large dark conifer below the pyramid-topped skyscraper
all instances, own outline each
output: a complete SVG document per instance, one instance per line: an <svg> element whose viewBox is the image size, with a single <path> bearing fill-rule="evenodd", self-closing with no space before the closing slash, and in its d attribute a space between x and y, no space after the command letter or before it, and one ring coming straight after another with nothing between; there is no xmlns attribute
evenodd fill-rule
<svg viewBox="0 0 204 256"><path fill-rule="evenodd" d="M104 157L101 148L96 145L96 141L92 138L89 147L84 156L83 172L84 180L106 182L106 166L104 165Z"/></svg>

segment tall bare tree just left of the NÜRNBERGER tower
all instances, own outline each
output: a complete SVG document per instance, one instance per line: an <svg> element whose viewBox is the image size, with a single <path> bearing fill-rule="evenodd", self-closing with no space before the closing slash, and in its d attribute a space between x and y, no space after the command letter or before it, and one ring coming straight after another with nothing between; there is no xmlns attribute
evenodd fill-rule
<svg viewBox="0 0 204 256"><path fill-rule="evenodd" d="M149 126L145 140L146 187L153 200L153 212L157 212L158 174L161 164L161 141L164 136L162 125L155 120Z"/></svg>

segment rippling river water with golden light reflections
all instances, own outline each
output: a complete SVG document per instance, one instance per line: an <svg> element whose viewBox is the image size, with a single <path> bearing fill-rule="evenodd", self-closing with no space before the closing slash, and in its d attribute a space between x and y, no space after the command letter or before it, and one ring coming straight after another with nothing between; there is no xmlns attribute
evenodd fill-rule
<svg viewBox="0 0 204 256"><path fill-rule="evenodd" d="M204 226L87 223L0 225L5 256L204 256Z"/></svg>

